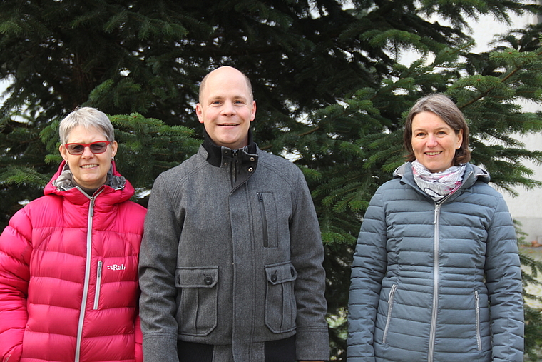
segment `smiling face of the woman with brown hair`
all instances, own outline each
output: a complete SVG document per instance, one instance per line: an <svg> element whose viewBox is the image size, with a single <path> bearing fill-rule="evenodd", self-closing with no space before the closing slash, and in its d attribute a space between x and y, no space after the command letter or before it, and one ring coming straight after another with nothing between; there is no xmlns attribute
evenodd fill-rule
<svg viewBox="0 0 542 362"><path fill-rule="evenodd" d="M424 111L412 119L412 149L416 159L431 172L441 172L454 164L463 130L456 133L433 112Z"/></svg>

